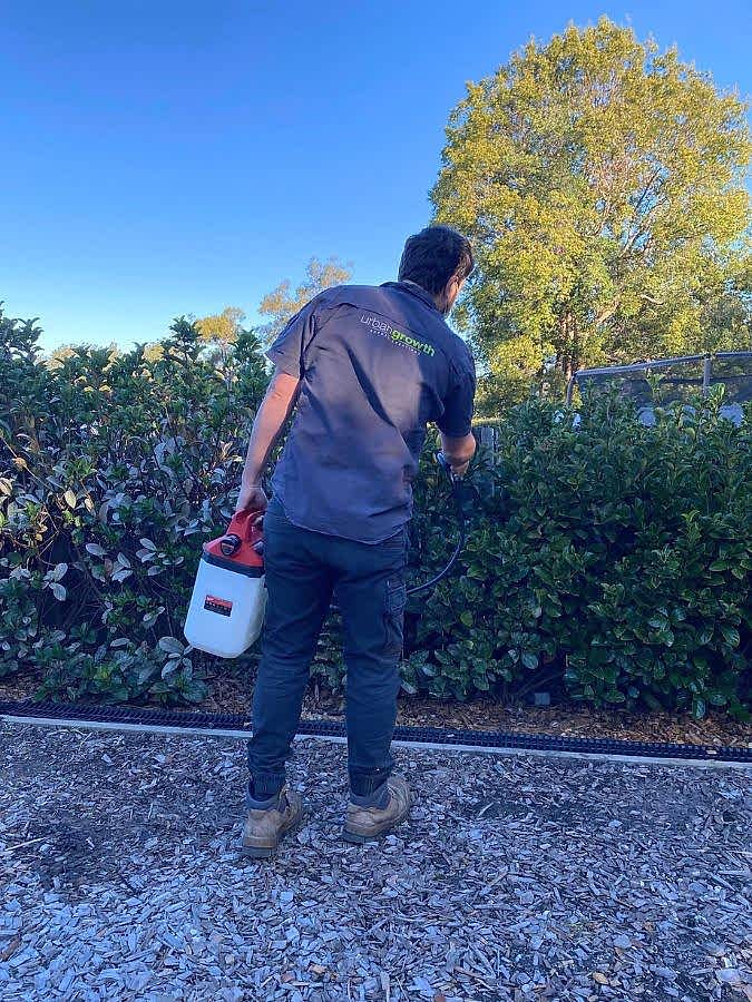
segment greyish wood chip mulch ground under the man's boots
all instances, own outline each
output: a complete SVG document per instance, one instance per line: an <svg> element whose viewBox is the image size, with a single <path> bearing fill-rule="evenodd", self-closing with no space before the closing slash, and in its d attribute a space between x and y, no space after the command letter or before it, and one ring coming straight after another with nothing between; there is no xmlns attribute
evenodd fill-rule
<svg viewBox="0 0 752 1002"><path fill-rule="evenodd" d="M752 1002L748 770L397 758L411 817L353 846L345 748L296 743L255 862L244 741L0 724L0 998Z"/></svg>

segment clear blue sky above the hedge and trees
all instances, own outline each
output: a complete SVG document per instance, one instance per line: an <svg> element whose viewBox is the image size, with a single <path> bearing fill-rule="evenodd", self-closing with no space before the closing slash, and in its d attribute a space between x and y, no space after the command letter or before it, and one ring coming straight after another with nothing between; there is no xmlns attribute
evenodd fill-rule
<svg viewBox="0 0 752 1002"><path fill-rule="evenodd" d="M47 347L125 345L253 320L313 254L390 278L465 82L602 13L752 90L743 0L8 0L0 299Z"/></svg>

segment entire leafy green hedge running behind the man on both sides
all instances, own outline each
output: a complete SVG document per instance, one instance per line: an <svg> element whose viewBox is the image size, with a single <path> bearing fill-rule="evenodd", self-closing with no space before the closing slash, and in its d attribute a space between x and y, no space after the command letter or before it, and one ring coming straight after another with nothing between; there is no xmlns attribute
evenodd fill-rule
<svg viewBox="0 0 752 1002"><path fill-rule="evenodd" d="M0 313L0 676L38 695L198 703L204 676L252 670L187 648L201 544L232 512L267 373L241 334L212 352L180 318L157 351L77 348L55 363ZM595 705L744 714L752 540L750 416L720 399L656 409L534 400L499 423L466 488L455 573L412 600L404 688L466 699L559 687ZM429 441L410 577L456 532ZM333 688L332 639L314 674Z"/></svg>

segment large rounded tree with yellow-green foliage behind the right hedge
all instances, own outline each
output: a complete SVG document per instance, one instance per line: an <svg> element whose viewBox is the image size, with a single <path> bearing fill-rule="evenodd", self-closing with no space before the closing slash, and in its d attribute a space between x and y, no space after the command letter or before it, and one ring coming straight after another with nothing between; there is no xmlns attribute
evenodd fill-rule
<svg viewBox="0 0 752 1002"><path fill-rule="evenodd" d="M749 155L735 94L607 18L469 84L432 198L477 252L460 321L490 373L749 338Z"/></svg>

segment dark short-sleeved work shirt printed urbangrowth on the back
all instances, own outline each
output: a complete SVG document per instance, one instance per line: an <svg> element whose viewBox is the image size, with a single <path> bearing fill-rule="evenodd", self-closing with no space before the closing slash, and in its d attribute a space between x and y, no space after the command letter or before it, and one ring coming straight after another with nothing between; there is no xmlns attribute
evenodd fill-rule
<svg viewBox="0 0 752 1002"><path fill-rule="evenodd" d="M267 356L301 380L272 481L295 525L377 543L412 514L412 480L434 421L470 432L472 355L429 293L409 282L328 288Z"/></svg>

